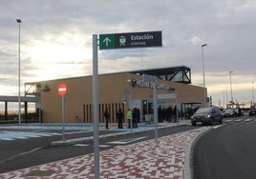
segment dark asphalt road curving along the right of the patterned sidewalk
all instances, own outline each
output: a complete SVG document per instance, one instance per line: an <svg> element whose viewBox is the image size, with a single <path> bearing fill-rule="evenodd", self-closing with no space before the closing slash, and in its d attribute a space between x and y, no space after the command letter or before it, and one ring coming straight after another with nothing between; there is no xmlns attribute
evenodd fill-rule
<svg viewBox="0 0 256 179"><path fill-rule="evenodd" d="M246 119L216 127L199 139L193 152L194 179L256 178L256 119Z"/></svg>

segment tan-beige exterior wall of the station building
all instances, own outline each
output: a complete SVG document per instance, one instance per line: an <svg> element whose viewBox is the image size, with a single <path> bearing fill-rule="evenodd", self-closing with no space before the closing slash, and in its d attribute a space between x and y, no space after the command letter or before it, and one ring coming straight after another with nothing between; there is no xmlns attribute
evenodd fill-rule
<svg viewBox="0 0 256 179"><path fill-rule="evenodd" d="M132 99L151 100L153 89L135 87L132 88L127 79L141 80L142 77L130 73L100 75L98 77L98 99L100 109L103 111L106 107L111 109L112 115L115 115L116 109L123 107L122 89L131 89ZM53 80L42 82L41 87L48 85L49 91L41 92L41 108L43 110L43 123L61 123L62 108L61 96L57 93L57 85L66 83L68 86L67 100L67 123L84 122L85 116L88 117L87 109L93 109L93 79L92 76L77 77L62 80ZM158 93L177 93L178 103L203 103L203 88L180 83L171 83L158 80L159 84L167 84L175 91L158 89ZM128 97L128 96L127 96ZM174 100L166 100L174 102ZM129 104L126 105L129 107ZM86 111L85 111L86 110ZM102 122L102 111L99 114L99 121ZM78 116L78 121L75 121L75 116ZM91 119L85 119L85 122L93 122ZM116 116L112 117L111 122L116 121Z"/></svg>

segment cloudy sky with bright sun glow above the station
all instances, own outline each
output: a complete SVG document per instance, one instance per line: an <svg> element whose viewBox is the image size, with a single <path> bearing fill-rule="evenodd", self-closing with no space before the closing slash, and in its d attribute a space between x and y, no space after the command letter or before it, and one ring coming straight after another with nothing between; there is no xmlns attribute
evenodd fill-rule
<svg viewBox="0 0 256 179"><path fill-rule="evenodd" d="M92 75L92 34L162 31L162 48L100 50L99 73L187 66L219 105L252 101L256 82L255 0L0 0L0 95L21 84ZM255 85L256 88L256 85ZM22 92L23 94L23 92Z"/></svg>

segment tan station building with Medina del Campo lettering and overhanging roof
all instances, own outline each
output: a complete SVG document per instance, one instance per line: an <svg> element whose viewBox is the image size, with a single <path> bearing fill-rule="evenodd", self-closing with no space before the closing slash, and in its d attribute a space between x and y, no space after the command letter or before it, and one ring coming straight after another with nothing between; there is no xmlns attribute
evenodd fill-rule
<svg viewBox="0 0 256 179"><path fill-rule="evenodd" d="M103 113L109 110L110 123L117 122L117 109L124 113L127 109L137 108L140 121L153 113L153 84L143 80L152 75L157 79L158 94L175 94L175 98L158 100L162 109L177 106L179 115L186 117L187 109L203 106L204 88L191 85L190 69L184 66L153 70L134 70L98 75L99 122L104 122ZM26 95L40 97L42 123L62 122L62 97L57 86L65 83L68 92L67 123L93 123L93 76L82 76L49 81L26 83Z"/></svg>

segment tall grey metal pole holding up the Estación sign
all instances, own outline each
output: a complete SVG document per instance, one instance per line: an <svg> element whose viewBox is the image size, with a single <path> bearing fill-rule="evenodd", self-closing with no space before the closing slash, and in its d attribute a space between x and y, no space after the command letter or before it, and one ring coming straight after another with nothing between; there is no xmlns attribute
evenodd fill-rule
<svg viewBox="0 0 256 179"><path fill-rule="evenodd" d="M97 71L97 35L93 34L93 101L94 101L94 148L95 179L99 179L99 139L98 139L98 71Z"/></svg>

